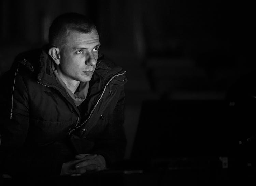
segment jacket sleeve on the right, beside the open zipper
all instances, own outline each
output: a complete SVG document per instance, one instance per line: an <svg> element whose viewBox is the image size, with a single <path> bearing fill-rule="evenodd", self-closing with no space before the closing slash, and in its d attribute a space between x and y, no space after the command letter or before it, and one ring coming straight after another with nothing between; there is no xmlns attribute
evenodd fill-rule
<svg viewBox="0 0 256 186"><path fill-rule="evenodd" d="M125 92L124 86L122 86L113 114L111 114L103 134L95 141L93 153L101 154L105 158L108 168L116 166L124 158L127 143L123 126L124 102Z"/></svg>

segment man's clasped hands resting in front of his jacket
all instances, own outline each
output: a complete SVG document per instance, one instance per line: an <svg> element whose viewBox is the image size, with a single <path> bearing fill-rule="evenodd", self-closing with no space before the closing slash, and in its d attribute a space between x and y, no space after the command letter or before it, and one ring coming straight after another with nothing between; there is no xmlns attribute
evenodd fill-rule
<svg viewBox="0 0 256 186"><path fill-rule="evenodd" d="M87 171L106 169L106 161L102 155L78 154L75 159L62 164L60 175L79 176Z"/></svg>

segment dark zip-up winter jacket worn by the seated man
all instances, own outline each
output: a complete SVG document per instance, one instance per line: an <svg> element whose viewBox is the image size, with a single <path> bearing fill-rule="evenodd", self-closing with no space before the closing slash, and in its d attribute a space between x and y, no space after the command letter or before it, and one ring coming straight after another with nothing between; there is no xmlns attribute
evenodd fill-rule
<svg viewBox="0 0 256 186"><path fill-rule="evenodd" d="M56 80L47 48L18 55L1 78L1 167L11 176L60 175L79 153L122 160L125 71L99 55L86 100L76 107Z"/></svg>

